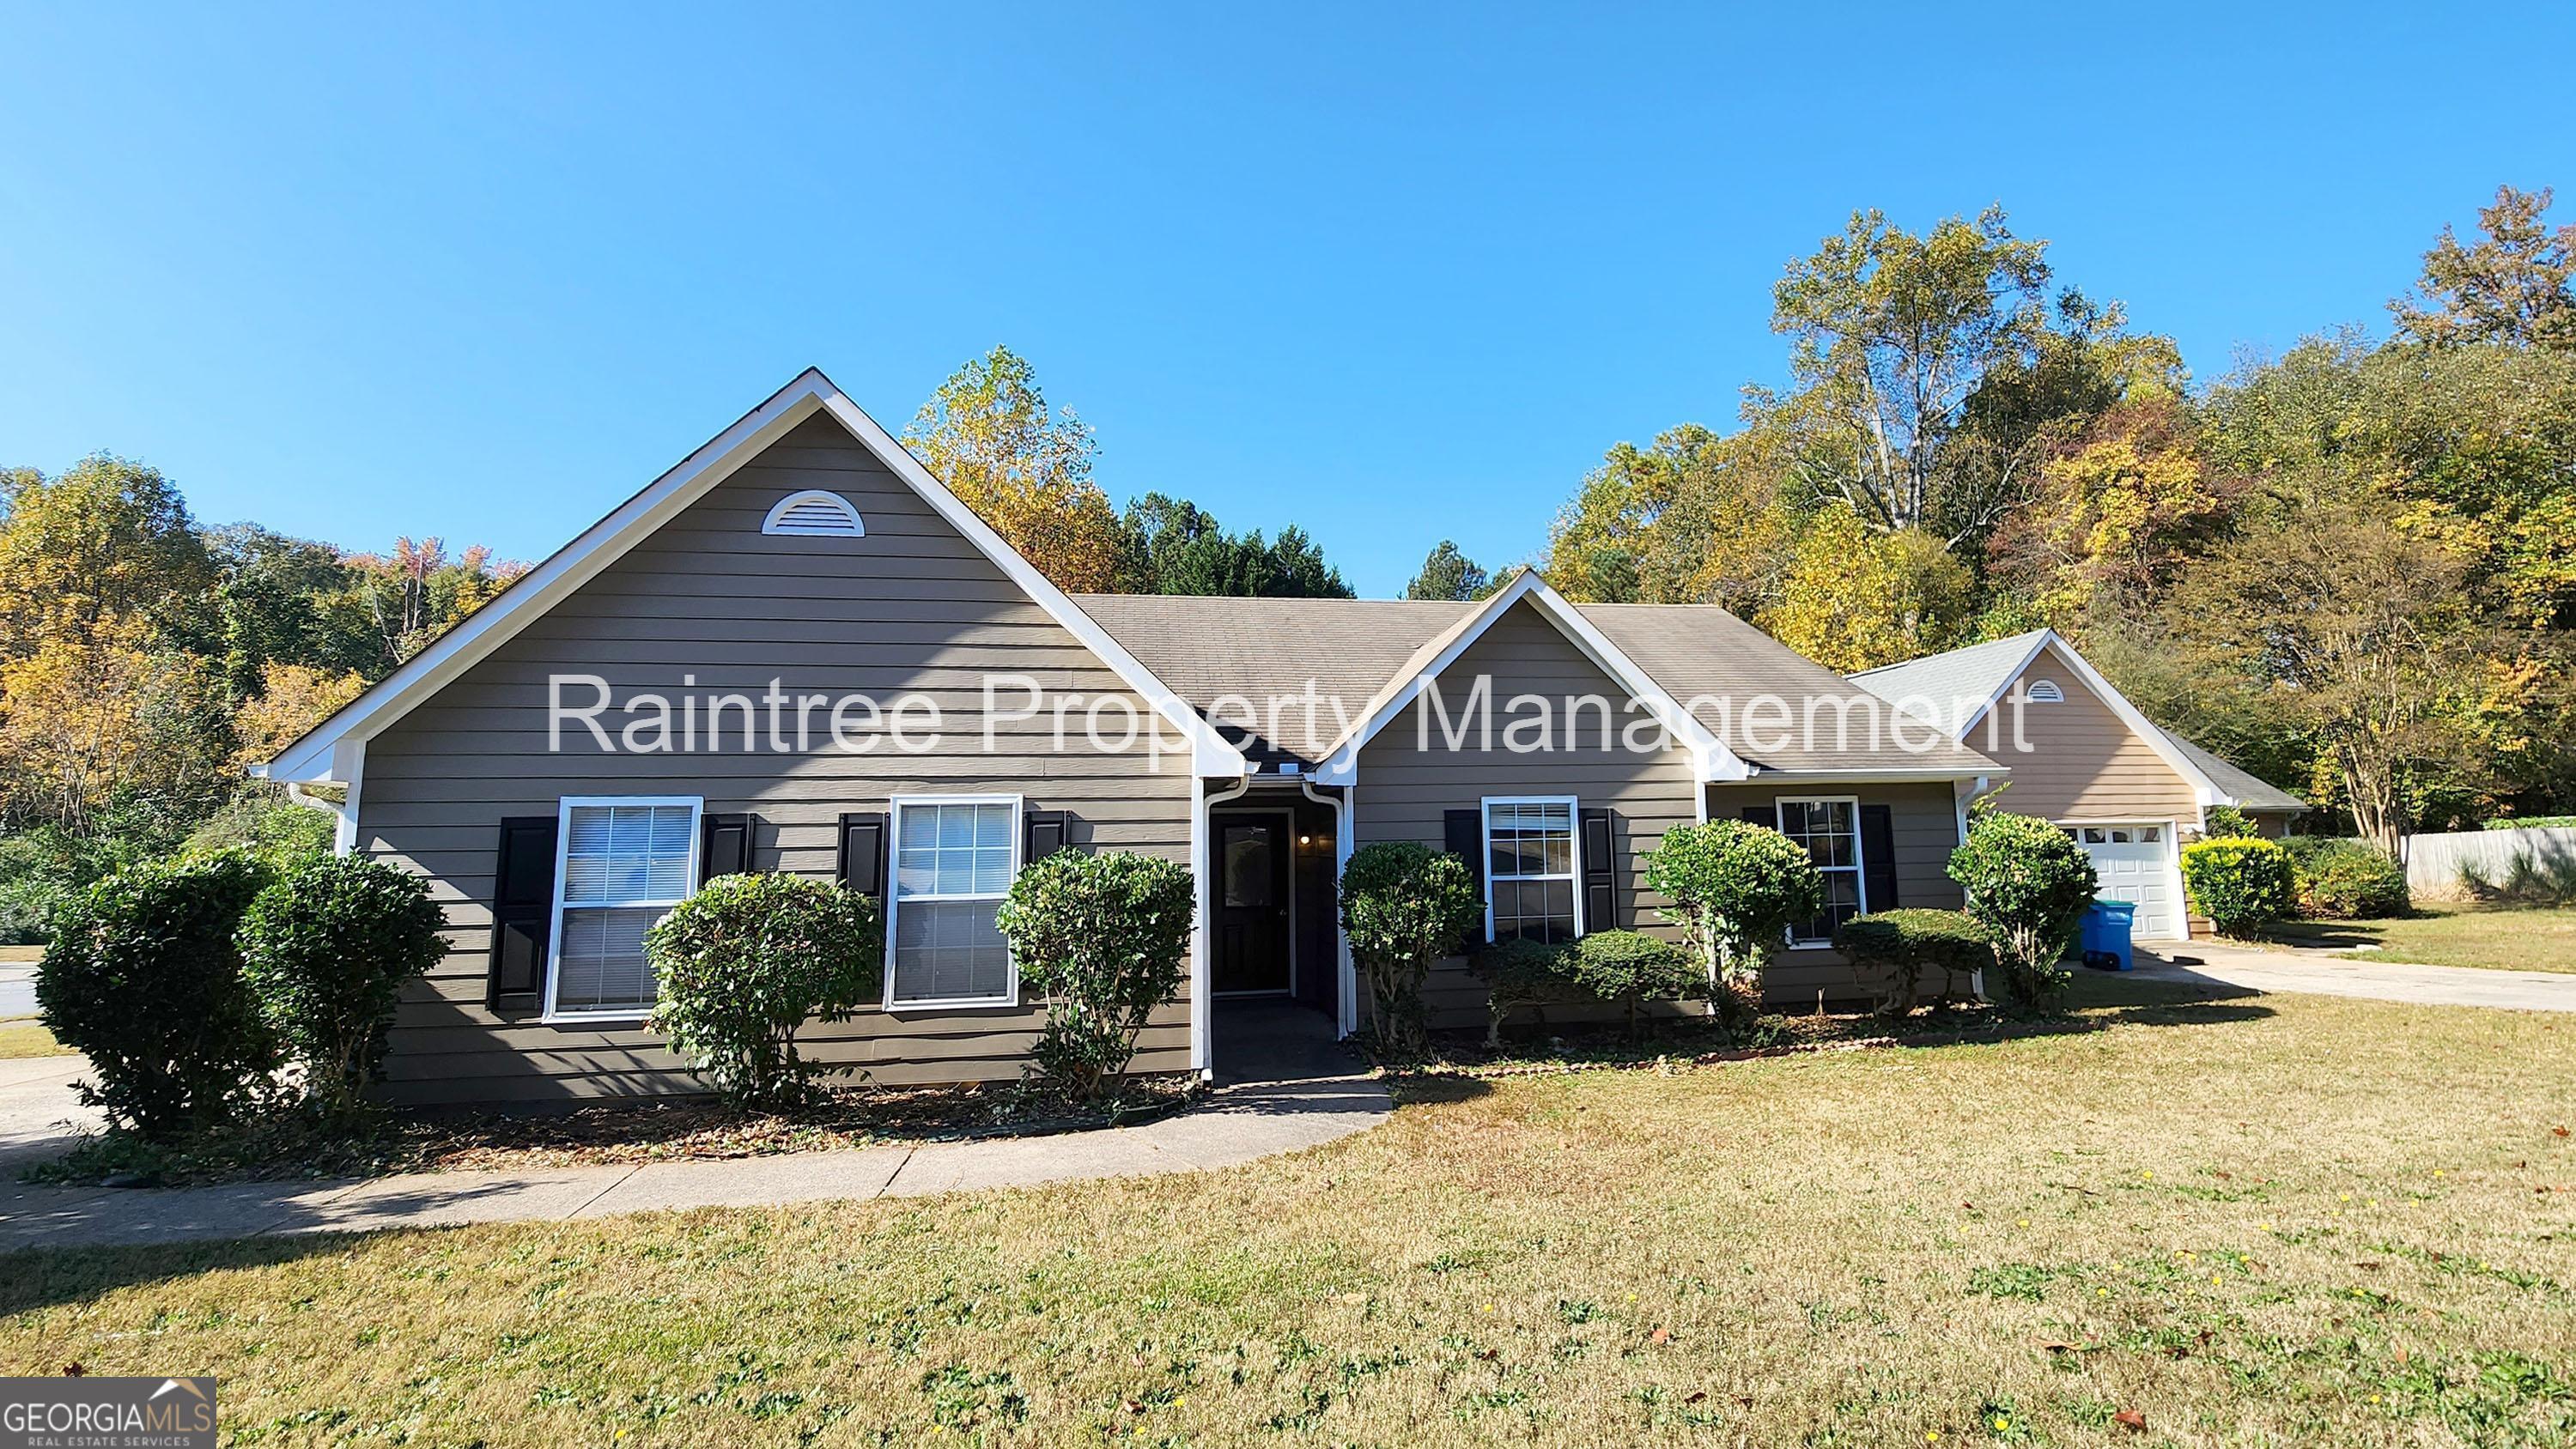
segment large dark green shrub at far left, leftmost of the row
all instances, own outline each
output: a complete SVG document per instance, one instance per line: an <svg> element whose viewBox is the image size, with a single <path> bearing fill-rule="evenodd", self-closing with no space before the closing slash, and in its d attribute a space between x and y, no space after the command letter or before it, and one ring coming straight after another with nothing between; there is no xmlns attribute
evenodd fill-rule
<svg viewBox="0 0 2576 1449"><path fill-rule="evenodd" d="M137 865L54 919L36 1006L90 1058L80 1096L147 1138L232 1120L278 1063L234 932L268 885L247 854Z"/></svg>

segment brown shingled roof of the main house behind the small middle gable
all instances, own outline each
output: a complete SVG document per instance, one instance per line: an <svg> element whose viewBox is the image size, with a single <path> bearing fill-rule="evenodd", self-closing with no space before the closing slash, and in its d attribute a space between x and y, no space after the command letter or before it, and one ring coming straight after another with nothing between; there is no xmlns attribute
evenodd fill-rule
<svg viewBox="0 0 2576 1449"><path fill-rule="evenodd" d="M1515 579L1515 587L1522 584ZM1538 587L1533 577L1530 595ZM1899 741L1888 710L1873 695L1718 605L1571 605L1556 589L1535 597L1561 610L1548 618L1569 631L1569 638L1577 631L1566 615L1579 620L1582 633L1597 638L1602 654L1623 659L1623 669L1641 674L1654 695L1672 700L1703 726L1721 757L1734 757L1734 764L1716 777L2007 775L2002 764L1953 739L1927 741L1924 728L1906 731ZM1479 620L1489 625L1510 605L1082 595L1082 607L1203 713L1226 695L1255 705L1301 695L1314 679L1321 705L1311 734L1303 708L1283 710L1275 736L1267 718L1239 734L1257 759L1327 764L1370 713L1440 664L1453 646L1463 651L1473 633L1481 633ZM1620 669L1605 672L1620 679ZM1747 721L1747 700L1765 695L1780 697L1801 721L1811 703L1821 705L1826 731L1837 728L1844 703L1868 700L1870 710L1850 713L1847 746L1801 749L1772 739L1777 731L1762 721ZM1334 713L1334 697L1347 713ZM1396 708L1401 710L1401 703ZM1218 723L1234 728L1234 721Z"/></svg>

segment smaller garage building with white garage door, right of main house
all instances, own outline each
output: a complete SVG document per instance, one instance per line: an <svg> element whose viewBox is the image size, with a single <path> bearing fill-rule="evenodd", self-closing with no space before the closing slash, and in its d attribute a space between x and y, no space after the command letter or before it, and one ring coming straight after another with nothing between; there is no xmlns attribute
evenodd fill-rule
<svg viewBox="0 0 2576 1449"><path fill-rule="evenodd" d="M2246 811L2269 836L2308 808L2148 721L2053 628L1865 669L1852 682L2009 762L1999 803L2066 826L2102 896L2138 906L2141 939L2190 937L2182 844L2202 834L2213 806Z"/></svg>

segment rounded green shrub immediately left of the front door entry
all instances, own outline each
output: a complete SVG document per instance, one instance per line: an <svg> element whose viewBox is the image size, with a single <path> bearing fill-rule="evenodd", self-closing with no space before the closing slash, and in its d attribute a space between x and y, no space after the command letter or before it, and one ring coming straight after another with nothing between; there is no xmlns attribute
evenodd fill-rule
<svg viewBox="0 0 2576 1449"><path fill-rule="evenodd" d="M1002 937L1020 981L1046 996L1030 1050L1041 1081L1113 1102L1154 1006L1190 981L1190 867L1159 854L1059 852L1010 883Z"/></svg>

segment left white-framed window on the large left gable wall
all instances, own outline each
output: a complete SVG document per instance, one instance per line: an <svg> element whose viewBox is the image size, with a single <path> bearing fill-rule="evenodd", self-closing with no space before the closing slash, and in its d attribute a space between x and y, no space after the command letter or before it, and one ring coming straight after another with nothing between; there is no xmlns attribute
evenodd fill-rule
<svg viewBox="0 0 2576 1449"><path fill-rule="evenodd" d="M567 795L554 818L546 1019L652 1011L644 932L698 888L696 795Z"/></svg>

